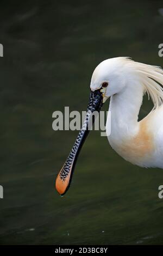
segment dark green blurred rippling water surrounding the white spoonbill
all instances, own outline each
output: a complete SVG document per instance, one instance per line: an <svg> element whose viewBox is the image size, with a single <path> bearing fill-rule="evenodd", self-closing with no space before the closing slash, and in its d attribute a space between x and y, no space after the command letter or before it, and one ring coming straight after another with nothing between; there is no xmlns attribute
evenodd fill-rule
<svg viewBox="0 0 163 256"><path fill-rule="evenodd" d="M1 2L1 245L163 244L163 170L124 161L92 131L61 198L55 178L78 131L52 130L54 111L86 110L102 60L163 66L161 8L149 0ZM151 108L145 97L140 118Z"/></svg>

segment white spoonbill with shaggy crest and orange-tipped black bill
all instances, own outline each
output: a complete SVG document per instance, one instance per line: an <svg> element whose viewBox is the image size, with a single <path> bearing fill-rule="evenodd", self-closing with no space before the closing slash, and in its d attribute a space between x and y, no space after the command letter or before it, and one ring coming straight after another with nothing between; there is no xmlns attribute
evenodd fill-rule
<svg viewBox="0 0 163 256"><path fill-rule="evenodd" d="M82 129L55 185L59 194L68 190L80 149L89 133L91 113L100 111L110 97L110 119L106 120L108 141L118 155L140 167L163 168L163 70L158 66L134 62L128 57L106 59L91 78L91 93ZM143 95L153 101L152 111L138 121Z"/></svg>

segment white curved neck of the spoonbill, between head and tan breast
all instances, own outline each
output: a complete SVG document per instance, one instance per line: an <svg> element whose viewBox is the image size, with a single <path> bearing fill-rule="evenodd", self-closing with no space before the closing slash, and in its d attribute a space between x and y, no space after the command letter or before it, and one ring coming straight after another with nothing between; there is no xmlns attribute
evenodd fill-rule
<svg viewBox="0 0 163 256"><path fill-rule="evenodd" d="M143 86L132 84L111 96L109 111L111 113L111 135L118 138L136 133L139 129L138 115L143 98ZM107 125L106 125L107 126Z"/></svg>

